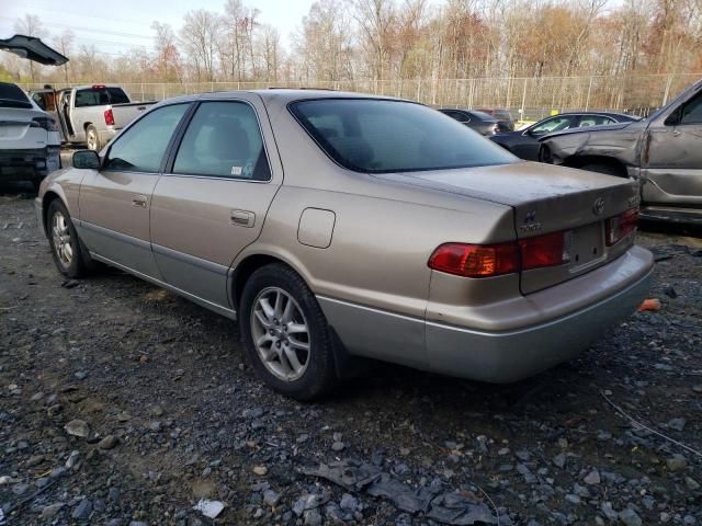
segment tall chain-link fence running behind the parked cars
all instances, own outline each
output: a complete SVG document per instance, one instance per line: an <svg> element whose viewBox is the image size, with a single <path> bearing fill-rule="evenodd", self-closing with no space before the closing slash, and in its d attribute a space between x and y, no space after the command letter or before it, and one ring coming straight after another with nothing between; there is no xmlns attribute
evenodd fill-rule
<svg viewBox="0 0 702 526"><path fill-rule="evenodd" d="M666 104L701 75L636 75L540 78L397 79L280 82L127 82L135 100L163 100L190 93L267 88L321 88L411 99L435 106L505 107L517 118L534 121L552 111L609 110L647 115ZM84 84L86 82L76 82ZM26 84L27 90L43 84ZM56 84L55 88L64 88Z"/></svg>

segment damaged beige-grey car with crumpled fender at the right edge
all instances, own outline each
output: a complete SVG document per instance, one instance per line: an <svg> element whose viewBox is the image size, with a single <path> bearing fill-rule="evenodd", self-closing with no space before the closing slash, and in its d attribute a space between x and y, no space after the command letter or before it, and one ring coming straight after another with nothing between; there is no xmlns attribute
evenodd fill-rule
<svg viewBox="0 0 702 526"><path fill-rule="evenodd" d="M702 81L647 118L542 139L540 160L641 180L642 218L702 224Z"/></svg>

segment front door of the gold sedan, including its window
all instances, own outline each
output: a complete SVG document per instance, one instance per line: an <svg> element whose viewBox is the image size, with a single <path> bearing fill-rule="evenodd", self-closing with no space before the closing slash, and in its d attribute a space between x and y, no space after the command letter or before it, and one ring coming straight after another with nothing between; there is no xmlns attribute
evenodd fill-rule
<svg viewBox="0 0 702 526"><path fill-rule="evenodd" d="M160 278L149 239L151 195L166 151L189 104L162 106L129 126L107 150L100 171L80 186L81 238L91 252Z"/></svg>

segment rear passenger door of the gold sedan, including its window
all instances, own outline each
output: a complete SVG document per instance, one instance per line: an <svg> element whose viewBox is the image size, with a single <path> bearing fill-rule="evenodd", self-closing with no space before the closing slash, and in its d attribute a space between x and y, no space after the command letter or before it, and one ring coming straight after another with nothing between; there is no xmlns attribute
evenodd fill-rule
<svg viewBox="0 0 702 526"><path fill-rule="evenodd" d="M199 103L154 192L151 243L166 282L231 310L236 255L260 235L282 182L265 111L257 95ZM280 162L280 161L278 161Z"/></svg>

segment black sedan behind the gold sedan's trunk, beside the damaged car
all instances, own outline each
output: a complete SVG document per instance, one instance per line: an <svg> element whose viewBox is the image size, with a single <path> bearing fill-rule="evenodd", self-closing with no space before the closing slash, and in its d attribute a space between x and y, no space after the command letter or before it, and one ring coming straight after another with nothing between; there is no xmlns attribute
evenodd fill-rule
<svg viewBox="0 0 702 526"><path fill-rule="evenodd" d="M580 112L562 113L553 117L546 117L532 124L528 128L516 132L500 133L490 137L502 148L511 151L517 157L528 161L539 160L539 139L545 135L564 129L581 128L585 126L602 126L616 123L638 121L638 117L623 113L611 112Z"/></svg>

